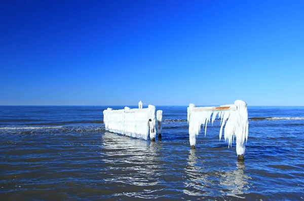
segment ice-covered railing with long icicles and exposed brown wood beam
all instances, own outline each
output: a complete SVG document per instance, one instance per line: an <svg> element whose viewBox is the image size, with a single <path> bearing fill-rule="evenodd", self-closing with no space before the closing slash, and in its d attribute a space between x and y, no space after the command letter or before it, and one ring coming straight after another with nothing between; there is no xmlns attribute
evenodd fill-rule
<svg viewBox="0 0 304 201"><path fill-rule="evenodd" d="M207 125L216 118L220 118L219 139L222 137L222 129L224 128L224 138L228 143L228 147L232 146L234 138L236 138L236 148L239 159L244 159L245 144L248 138L248 112L247 104L242 100L236 100L231 105L221 105L219 107L196 107L189 104L187 108L188 124L189 124L189 141L192 149L195 149L196 138L201 131L201 125L205 128L205 136Z"/></svg>

